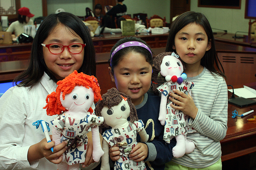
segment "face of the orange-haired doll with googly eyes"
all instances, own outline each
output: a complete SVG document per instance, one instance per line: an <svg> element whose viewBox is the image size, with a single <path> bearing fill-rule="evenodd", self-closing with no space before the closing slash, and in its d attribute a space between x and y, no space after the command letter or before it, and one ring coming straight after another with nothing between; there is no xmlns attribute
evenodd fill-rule
<svg viewBox="0 0 256 170"><path fill-rule="evenodd" d="M75 86L73 91L65 95L65 100L62 99L60 93L60 102L63 107L72 112L87 112L94 101L94 93L92 88L87 89L84 86Z"/></svg>

